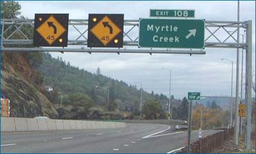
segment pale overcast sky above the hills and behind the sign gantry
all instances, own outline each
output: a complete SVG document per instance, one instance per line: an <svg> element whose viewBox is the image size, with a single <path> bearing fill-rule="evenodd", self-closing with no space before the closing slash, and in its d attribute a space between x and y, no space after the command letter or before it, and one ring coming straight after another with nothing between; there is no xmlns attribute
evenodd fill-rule
<svg viewBox="0 0 256 154"><path fill-rule="evenodd" d="M69 13L70 19L87 19L89 13L120 13L124 14L125 19L139 19L148 18L150 9L193 9L196 19L237 21L237 1L19 1L19 3L22 15L28 18L34 18L35 13ZM254 1L240 1L240 21L246 20L253 20L253 72L255 72ZM86 27L79 27L81 31L85 29ZM135 29L131 36L136 38L137 31ZM240 33L243 33L243 29L240 29ZM209 33L205 35L208 36ZM227 36L224 30L217 32L217 35L221 38ZM69 29L69 39L78 36L77 31ZM214 38L209 41L214 41ZM99 67L105 76L123 80L138 87L140 84L135 84L135 82L142 82L143 89L147 92L153 90L155 93L163 93L167 96L170 72L162 68L169 68L172 71L171 94L174 94L175 98L187 96L188 92L192 91L201 92L202 95L207 96L230 96L231 64L220 60L228 58L234 61L233 92L235 95L236 49L205 48L205 50L205 55L192 56L181 54L118 55L114 53L51 54L53 57L62 57L70 61L71 65L92 73L95 73Z"/></svg>

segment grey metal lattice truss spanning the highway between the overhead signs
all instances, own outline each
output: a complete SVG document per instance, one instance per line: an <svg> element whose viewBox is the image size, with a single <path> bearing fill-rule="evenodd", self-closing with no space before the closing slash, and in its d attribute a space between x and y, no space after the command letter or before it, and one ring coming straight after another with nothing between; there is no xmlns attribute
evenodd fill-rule
<svg viewBox="0 0 256 154"><path fill-rule="evenodd" d="M5 45L32 45L33 38L28 38L25 34L25 31L22 31L22 26L31 26L33 28L34 19L2 19L2 40L1 46L2 50L5 50ZM68 22L69 30L77 31L77 36L75 38L68 38L69 46L87 46L87 31L88 31L88 19L69 19ZM83 30L78 29L78 27L83 26ZM6 27L6 29L5 29ZM10 27L13 27L15 30L11 31L12 33L8 34ZM215 28L211 30L211 28ZM208 31L209 36L205 39L205 48L244 48L244 44L237 42L236 38L233 37L233 34L236 33L237 27L246 28L246 22L236 22L236 21L205 21L205 32ZM228 31L227 28L235 28L233 31ZM4 30L5 29L5 30ZM124 20L124 46L138 46L138 29L139 29L139 20L131 19ZM137 31L136 31L137 30ZM221 31L220 34L217 34L218 31ZM20 33L23 38L14 39L12 35L14 33ZM221 41L222 35L226 34L223 41ZM212 40L211 40L212 39ZM211 40L211 41L210 41ZM68 47L70 48L70 47ZM55 50L54 48L52 48ZM28 50L28 49L27 49ZM37 50L37 48L33 48ZM48 50L48 49L47 49ZM91 50L91 49L90 49ZM130 49L127 49L130 50ZM142 50L142 49L137 49ZM189 50L189 49L188 49Z"/></svg>

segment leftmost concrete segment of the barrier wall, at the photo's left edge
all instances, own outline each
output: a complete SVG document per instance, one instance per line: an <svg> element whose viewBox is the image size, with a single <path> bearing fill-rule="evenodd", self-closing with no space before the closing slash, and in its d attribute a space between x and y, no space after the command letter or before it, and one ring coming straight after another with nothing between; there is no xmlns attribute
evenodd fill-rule
<svg viewBox="0 0 256 154"><path fill-rule="evenodd" d="M1 117L1 132L15 132L16 127L13 117Z"/></svg>

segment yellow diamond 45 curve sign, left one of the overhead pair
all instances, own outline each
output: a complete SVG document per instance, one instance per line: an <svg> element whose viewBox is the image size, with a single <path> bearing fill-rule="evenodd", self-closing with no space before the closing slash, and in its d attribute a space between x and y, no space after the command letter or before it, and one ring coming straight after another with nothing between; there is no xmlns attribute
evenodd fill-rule
<svg viewBox="0 0 256 154"><path fill-rule="evenodd" d="M39 19L40 20L40 19ZM60 35L62 35L66 29L63 25L58 22L57 19L51 15L42 25L40 25L36 31L44 38L45 41L51 45L53 42L58 40ZM59 42L62 42L63 39L59 38Z"/></svg>

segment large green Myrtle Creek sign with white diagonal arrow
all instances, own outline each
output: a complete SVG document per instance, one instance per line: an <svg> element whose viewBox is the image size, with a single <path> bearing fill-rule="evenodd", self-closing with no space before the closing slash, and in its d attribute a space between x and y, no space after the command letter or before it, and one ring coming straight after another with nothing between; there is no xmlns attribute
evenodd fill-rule
<svg viewBox="0 0 256 154"><path fill-rule="evenodd" d="M152 19L139 21L140 48L204 48L202 19Z"/></svg>

